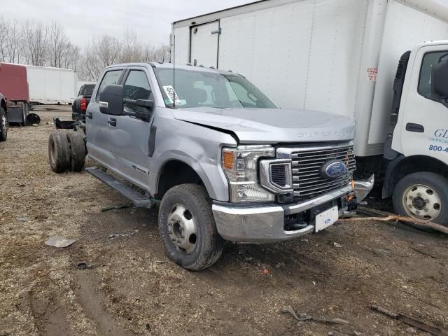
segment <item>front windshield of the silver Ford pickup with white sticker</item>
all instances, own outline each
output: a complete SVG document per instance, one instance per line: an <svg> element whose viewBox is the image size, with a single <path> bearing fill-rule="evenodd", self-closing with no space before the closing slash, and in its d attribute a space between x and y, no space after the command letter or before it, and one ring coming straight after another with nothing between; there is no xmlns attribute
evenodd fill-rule
<svg viewBox="0 0 448 336"><path fill-rule="evenodd" d="M154 71L168 107L277 108L255 85L237 74L184 69L176 69L174 74L173 69L157 67Z"/></svg>

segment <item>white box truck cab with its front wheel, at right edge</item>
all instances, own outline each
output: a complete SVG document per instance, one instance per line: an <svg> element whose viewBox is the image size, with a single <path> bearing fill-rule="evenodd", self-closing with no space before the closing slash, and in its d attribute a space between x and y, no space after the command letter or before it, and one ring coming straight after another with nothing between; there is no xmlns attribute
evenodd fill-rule
<svg viewBox="0 0 448 336"><path fill-rule="evenodd" d="M405 52L394 92L383 196L400 214L447 224L448 41Z"/></svg>

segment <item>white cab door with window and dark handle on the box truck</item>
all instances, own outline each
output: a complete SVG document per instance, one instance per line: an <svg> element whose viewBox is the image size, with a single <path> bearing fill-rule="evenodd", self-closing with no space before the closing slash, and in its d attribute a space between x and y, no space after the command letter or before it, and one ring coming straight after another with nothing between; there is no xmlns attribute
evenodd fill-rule
<svg viewBox="0 0 448 336"><path fill-rule="evenodd" d="M401 151L395 150L405 156L428 155L448 163L448 132L444 132L448 130L448 108L431 99L431 71L441 57L447 59L447 45L429 45L416 52L407 92L402 94L402 122L400 130L395 127L393 149L399 143Z"/></svg>

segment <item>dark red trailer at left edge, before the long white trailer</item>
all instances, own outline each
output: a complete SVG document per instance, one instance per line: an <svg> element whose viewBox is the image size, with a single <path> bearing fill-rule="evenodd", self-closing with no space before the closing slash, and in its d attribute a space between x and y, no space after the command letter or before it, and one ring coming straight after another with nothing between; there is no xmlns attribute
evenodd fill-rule
<svg viewBox="0 0 448 336"><path fill-rule="evenodd" d="M17 64L0 63L0 92L6 98L8 122L27 125L29 111L27 68Z"/></svg>

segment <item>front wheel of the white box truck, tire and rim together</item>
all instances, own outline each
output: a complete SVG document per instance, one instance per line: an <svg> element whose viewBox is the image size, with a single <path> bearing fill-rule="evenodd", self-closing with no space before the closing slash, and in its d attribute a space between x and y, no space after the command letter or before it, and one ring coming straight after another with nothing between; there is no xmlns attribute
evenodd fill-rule
<svg viewBox="0 0 448 336"><path fill-rule="evenodd" d="M397 214L448 226L448 179L432 172L403 177L393 190Z"/></svg>

